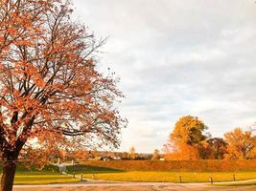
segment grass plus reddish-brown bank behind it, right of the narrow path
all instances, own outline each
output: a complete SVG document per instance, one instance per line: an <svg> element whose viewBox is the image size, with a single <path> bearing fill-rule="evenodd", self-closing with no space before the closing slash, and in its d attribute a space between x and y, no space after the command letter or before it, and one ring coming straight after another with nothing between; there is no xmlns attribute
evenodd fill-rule
<svg viewBox="0 0 256 191"><path fill-rule="evenodd" d="M67 169L96 180L207 182L211 177L214 182L220 182L233 181L234 175L235 180L256 179L255 167L255 160L110 160L84 161Z"/></svg>

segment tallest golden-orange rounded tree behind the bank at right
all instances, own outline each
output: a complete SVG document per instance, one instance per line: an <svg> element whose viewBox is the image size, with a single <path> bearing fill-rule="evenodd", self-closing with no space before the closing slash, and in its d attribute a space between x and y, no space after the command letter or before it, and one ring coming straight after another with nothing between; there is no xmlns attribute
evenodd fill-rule
<svg viewBox="0 0 256 191"><path fill-rule="evenodd" d="M169 141L164 145L167 159L200 159L199 148L207 137L207 127L198 117L181 117L175 124Z"/></svg>

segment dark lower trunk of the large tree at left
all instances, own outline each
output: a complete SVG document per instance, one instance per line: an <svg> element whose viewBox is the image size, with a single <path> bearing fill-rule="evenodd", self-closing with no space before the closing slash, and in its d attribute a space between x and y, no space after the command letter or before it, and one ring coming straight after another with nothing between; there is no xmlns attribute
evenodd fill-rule
<svg viewBox="0 0 256 191"><path fill-rule="evenodd" d="M16 170L16 159L4 161L3 175L1 178L1 191L12 191Z"/></svg>

